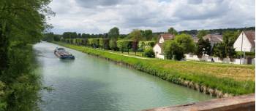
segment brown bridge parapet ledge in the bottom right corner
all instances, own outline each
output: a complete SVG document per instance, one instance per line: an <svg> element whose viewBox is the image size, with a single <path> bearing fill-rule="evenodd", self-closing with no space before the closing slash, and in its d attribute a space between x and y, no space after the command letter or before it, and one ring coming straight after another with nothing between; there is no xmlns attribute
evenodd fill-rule
<svg viewBox="0 0 256 111"><path fill-rule="evenodd" d="M143 111L255 111L255 94L211 99L171 107L159 107Z"/></svg>

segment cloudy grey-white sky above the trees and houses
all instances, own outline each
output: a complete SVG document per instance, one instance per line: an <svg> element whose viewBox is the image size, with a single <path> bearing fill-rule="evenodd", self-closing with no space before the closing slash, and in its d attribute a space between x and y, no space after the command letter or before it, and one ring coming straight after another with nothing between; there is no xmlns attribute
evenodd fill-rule
<svg viewBox="0 0 256 111"><path fill-rule="evenodd" d="M153 32L255 26L255 0L53 0L53 33Z"/></svg>

